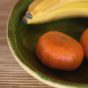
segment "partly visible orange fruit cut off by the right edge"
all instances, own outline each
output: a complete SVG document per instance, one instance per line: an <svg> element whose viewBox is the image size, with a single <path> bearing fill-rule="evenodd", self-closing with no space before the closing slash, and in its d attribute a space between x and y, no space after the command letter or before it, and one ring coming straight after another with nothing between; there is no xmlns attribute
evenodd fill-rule
<svg viewBox="0 0 88 88"><path fill-rule="evenodd" d="M88 59L88 29L83 32L80 42L83 46L85 57Z"/></svg>

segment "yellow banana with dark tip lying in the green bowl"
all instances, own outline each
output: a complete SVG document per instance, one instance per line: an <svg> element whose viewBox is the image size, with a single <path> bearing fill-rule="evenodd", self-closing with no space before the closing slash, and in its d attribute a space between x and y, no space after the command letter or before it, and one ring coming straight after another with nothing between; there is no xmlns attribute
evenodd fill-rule
<svg viewBox="0 0 88 88"><path fill-rule="evenodd" d="M78 16L88 17L88 0L34 0L23 20L38 24Z"/></svg>

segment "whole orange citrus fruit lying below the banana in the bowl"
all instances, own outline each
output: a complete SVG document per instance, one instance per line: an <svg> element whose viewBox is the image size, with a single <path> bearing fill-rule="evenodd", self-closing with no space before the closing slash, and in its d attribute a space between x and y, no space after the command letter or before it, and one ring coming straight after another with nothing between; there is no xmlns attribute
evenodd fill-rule
<svg viewBox="0 0 88 88"><path fill-rule="evenodd" d="M42 35L36 44L36 55L40 61L53 69L74 70L83 61L83 48L72 37L57 31Z"/></svg>

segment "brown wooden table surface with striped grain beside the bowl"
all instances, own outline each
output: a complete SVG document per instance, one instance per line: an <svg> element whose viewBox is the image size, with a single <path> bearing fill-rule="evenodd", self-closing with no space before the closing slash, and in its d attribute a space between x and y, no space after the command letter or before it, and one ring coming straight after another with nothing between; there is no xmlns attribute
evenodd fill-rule
<svg viewBox="0 0 88 88"><path fill-rule="evenodd" d="M7 40L8 15L18 0L0 0L0 88L50 88L25 72L12 56Z"/></svg>

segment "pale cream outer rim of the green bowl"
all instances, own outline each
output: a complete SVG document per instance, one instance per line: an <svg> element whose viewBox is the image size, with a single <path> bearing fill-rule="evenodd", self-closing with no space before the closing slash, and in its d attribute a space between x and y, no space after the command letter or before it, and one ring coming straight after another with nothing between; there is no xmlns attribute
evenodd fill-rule
<svg viewBox="0 0 88 88"><path fill-rule="evenodd" d="M7 38L7 43L8 43L8 47L14 57L14 59L18 62L18 64L32 77L36 78L37 80L39 80L40 82L47 84L48 86L54 87L54 88L88 88L88 85L86 84L74 84L74 85L67 85L65 83L57 83L51 80L45 80L43 79L41 76L39 76L36 72L34 72L33 70L31 70L27 65L25 65L19 58L19 56L15 53L15 49L13 48L13 46L11 45L11 40L9 38L9 22L10 22L10 17L13 13L14 8L16 7L16 5L20 2L20 0L18 0L14 5L13 8L11 9L11 12L8 16L8 21L7 21L7 27L6 27L6 38ZM84 87L85 86L85 87Z"/></svg>

